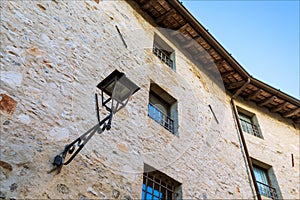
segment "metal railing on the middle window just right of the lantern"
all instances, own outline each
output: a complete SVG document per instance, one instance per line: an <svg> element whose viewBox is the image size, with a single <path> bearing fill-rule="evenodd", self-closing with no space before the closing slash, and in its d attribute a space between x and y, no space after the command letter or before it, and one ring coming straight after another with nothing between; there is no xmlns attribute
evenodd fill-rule
<svg viewBox="0 0 300 200"><path fill-rule="evenodd" d="M174 134L174 121L151 103L148 105L148 116Z"/></svg>

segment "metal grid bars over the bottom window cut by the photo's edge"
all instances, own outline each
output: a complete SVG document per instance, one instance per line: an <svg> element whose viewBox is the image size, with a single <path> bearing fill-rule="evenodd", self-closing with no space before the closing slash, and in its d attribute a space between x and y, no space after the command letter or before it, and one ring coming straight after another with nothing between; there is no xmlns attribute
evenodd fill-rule
<svg viewBox="0 0 300 200"><path fill-rule="evenodd" d="M158 190L156 190L156 188L158 188ZM155 176L151 178L147 172L143 174L142 200L172 200L176 195L177 193L175 192L174 186L164 183Z"/></svg>

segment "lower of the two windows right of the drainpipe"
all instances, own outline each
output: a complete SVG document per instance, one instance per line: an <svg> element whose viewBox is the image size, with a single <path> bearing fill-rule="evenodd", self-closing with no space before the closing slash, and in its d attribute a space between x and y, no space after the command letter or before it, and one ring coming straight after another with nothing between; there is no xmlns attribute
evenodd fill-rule
<svg viewBox="0 0 300 200"><path fill-rule="evenodd" d="M257 165L253 165L253 170L259 193L272 199L278 199L276 189L271 187L268 170Z"/></svg>

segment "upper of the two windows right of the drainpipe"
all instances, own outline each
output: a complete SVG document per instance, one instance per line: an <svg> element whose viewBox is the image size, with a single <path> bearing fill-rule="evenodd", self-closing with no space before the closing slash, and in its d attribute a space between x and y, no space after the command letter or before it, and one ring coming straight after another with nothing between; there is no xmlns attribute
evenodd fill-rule
<svg viewBox="0 0 300 200"><path fill-rule="evenodd" d="M263 138L260 132L256 117L247 111L240 111L239 109L239 119L244 132L254 135L259 138Z"/></svg>

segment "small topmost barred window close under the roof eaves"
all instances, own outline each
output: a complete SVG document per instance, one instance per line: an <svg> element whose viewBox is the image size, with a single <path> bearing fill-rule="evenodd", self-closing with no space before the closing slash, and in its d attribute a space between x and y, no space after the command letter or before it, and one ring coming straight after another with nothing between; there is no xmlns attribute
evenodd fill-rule
<svg viewBox="0 0 300 200"><path fill-rule="evenodd" d="M175 71L175 51L157 35L154 35L153 53Z"/></svg>

